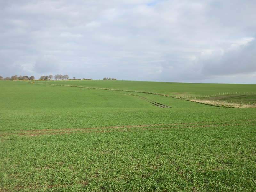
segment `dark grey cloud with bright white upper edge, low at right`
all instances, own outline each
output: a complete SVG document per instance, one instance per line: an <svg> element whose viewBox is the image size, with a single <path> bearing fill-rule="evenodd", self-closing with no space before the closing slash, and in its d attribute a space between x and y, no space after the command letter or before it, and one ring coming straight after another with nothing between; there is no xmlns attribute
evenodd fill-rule
<svg viewBox="0 0 256 192"><path fill-rule="evenodd" d="M227 49L204 52L199 59L205 75L237 75L256 72L256 40L245 39Z"/></svg>

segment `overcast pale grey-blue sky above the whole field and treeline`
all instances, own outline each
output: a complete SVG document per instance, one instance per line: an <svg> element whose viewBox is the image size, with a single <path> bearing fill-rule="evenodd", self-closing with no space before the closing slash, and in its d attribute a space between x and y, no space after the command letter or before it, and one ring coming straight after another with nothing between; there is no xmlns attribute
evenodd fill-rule
<svg viewBox="0 0 256 192"><path fill-rule="evenodd" d="M255 0L0 0L0 76L256 84Z"/></svg>

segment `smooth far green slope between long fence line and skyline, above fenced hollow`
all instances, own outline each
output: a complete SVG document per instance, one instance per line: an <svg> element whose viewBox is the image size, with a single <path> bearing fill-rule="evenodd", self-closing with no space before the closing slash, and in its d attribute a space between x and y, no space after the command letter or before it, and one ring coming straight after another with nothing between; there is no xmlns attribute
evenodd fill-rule
<svg viewBox="0 0 256 192"><path fill-rule="evenodd" d="M36 82L38 83L38 82ZM137 90L173 95L208 95L226 92L255 92L255 84L202 84L202 83L168 83L146 81L42 81L40 83L68 84L85 87L102 87L125 90Z"/></svg>

